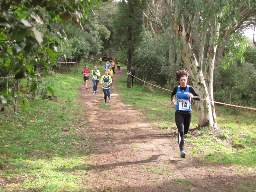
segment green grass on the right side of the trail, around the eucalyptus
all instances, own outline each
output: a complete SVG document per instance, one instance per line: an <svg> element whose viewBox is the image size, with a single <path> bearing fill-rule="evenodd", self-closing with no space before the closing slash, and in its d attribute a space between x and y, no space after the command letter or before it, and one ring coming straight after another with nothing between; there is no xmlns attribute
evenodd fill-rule
<svg viewBox="0 0 256 192"><path fill-rule="evenodd" d="M138 85L129 89L126 88L126 78L127 75L120 78L117 85L121 90L120 97L123 101L139 107L153 124L161 128L162 132L177 132L170 92L154 88L149 94ZM185 140L193 146L193 149L188 151L189 155L202 158L206 163L256 167L255 111L243 108L239 110L240 115L232 115L227 107L216 106L220 129L212 130L211 127L197 127L197 111L194 106L190 132L185 135Z"/></svg>

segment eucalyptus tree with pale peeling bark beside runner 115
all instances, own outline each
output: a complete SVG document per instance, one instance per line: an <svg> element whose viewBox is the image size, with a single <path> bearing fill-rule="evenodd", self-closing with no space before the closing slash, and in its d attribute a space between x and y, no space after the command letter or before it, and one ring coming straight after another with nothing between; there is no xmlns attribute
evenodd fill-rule
<svg viewBox="0 0 256 192"><path fill-rule="evenodd" d="M230 20L226 17L239 18L237 15L236 1L208 1L208 0L186 0L168 1L165 0L166 9L169 12L169 19L172 21L178 49L182 59L190 72L190 77L196 91L204 99L197 102L198 119L200 126L214 126L216 115L213 100L213 69L215 65L217 46L220 45L220 26L229 27ZM248 1L244 1L247 2ZM195 27L195 24L196 27ZM193 32L200 34L199 57L191 39ZM207 45L207 46L206 46ZM208 47L207 54L204 53ZM204 56L206 55L206 58ZM203 64L205 64L203 71Z"/></svg>

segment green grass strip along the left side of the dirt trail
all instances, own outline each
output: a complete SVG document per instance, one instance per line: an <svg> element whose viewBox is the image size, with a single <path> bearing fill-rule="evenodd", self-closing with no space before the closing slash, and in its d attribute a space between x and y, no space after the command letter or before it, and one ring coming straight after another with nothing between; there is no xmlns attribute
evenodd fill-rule
<svg viewBox="0 0 256 192"><path fill-rule="evenodd" d="M1 112L0 175L6 180L22 178L22 182L6 186L8 191L81 191L77 180L85 180L92 170L85 165L89 156L84 153L93 143L76 136L77 130L87 128L77 92L83 78L71 72L47 76L43 81L52 87L58 100L41 100L38 95L32 102L32 94L28 94L26 111L19 103L16 113L12 108ZM26 83L22 80L21 85Z"/></svg>

